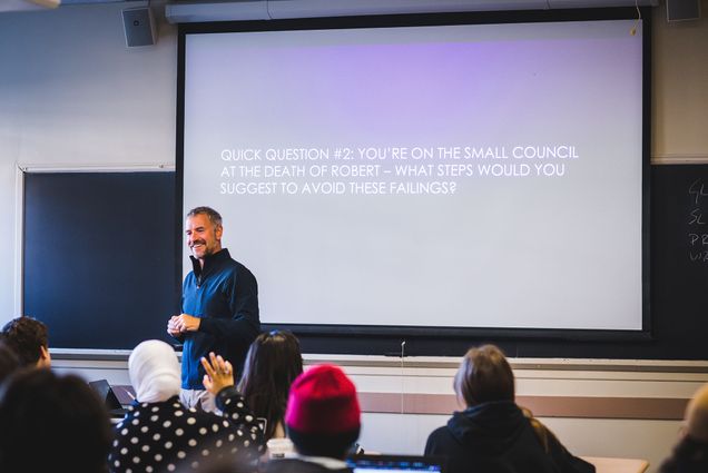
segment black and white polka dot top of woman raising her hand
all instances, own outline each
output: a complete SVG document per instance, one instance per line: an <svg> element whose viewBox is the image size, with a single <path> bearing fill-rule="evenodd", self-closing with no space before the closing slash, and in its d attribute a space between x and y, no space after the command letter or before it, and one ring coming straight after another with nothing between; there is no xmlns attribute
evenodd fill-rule
<svg viewBox="0 0 708 473"><path fill-rule="evenodd" d="M135 403L115 427L108 456L114 473L198 470L232 456L256 461L265 451L263 432L235 387L216 397L223 416L185 407L177 396L160 403Z"/></svg>

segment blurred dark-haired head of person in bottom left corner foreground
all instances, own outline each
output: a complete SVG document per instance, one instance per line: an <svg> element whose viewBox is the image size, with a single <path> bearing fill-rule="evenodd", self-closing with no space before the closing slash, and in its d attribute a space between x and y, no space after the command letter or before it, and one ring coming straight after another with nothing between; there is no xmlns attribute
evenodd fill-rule
<svg viewBox="0 0 708 473"><path fill-rule="evenodd" d="M105 473L108 412L73 375L24 368L0 395L0 472Z"/></svg>

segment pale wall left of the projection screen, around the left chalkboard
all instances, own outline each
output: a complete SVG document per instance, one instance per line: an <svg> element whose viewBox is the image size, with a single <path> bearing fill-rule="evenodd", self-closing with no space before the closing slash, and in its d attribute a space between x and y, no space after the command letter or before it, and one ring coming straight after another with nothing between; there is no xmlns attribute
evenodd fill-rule
<svg viewBox="0 0 708 473"><path fill-rule="evenodd" d="M140 4L0 14L0 215L12 248L0 265L0 323L20 311L18 165L174 167L176 28L163 20L157 45L126 48L121 10Z"/></svg>

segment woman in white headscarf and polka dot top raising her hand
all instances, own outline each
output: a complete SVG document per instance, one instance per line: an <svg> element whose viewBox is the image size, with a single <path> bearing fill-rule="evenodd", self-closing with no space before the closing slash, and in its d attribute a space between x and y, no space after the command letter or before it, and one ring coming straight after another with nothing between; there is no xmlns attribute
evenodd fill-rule
<svg viewBox="0 0 708 473"><path fill-rule="evenodd" d="M116 425L108 465L112 472L198 469L212 459L255 461L264 450L263 433L234 386L229 362L210 354L201 359L204 387L216 398L224 416L187 408L179 403L181 372L171 346L147 341L128 358L128 374L136 401Z"/></svg>

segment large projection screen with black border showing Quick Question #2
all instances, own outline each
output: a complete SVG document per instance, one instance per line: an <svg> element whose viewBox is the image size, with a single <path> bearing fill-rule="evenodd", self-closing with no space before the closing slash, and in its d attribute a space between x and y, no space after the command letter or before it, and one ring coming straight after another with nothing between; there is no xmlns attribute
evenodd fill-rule
<svg viewBox="0 0 708 473"><path fill-rule="evenodd" d="M180 26L183 209L223 215L264 324L648 334L648 31L527 18Z"/></svg>

